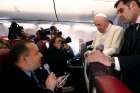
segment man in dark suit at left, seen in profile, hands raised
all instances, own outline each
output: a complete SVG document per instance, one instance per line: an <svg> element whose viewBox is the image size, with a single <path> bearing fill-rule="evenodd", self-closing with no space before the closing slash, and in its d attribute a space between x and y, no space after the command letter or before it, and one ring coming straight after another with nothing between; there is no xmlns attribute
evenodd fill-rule
<svg viewBox="0 0 140 93"><path fill-rule="evenodd" d="M39 84L34 70L41 66L42 54L31 41L19 41L3 65L3 93L53 93L57 79L50 73L45 86Z"/></svg>

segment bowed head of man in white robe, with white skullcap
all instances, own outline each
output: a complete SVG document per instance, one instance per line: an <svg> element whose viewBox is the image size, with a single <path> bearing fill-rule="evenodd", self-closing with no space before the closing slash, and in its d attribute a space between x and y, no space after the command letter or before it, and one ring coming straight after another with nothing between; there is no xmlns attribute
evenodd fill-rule
<svg viewBox="0 0 140 93"><path fill-rule="evenodd" d="M107 17L104 14L97 14L94 17L94 22L95 22L95 25L96 25L98 31L100 31L101 33L105 33L105 31L109 25Z"/></svg>

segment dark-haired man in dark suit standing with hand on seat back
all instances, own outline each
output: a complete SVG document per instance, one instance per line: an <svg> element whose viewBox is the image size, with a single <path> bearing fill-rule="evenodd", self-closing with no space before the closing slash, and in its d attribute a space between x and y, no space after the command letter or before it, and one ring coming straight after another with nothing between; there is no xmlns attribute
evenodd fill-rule
<svg viewBox="0 0 140 93"><path fill-rule="evenodd" d="M96 50L88 54L86 62L90 63L89 68L94 71L95 68L92 67L97 62L107 68L114 66L115 70L121 72L128 88L134 93L140 93L140 1L118 0L115 8L121 20L132 23L125 31L125 40L120 55L109 58ZM101 72L101 69L96 69L95 72L99 71Z"/></svg>

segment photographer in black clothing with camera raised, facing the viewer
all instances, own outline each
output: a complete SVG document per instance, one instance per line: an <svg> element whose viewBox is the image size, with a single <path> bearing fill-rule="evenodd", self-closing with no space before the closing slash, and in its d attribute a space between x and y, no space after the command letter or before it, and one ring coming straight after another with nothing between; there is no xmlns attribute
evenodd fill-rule
<svg viewBox="0 0 140 93"><path fill-rule="evenodd" d="M62 48L62 37L54 37L47 53L45 54L45 61L49 64L51 71L56 76L64 75L67 72L67 56Z"/></svg>

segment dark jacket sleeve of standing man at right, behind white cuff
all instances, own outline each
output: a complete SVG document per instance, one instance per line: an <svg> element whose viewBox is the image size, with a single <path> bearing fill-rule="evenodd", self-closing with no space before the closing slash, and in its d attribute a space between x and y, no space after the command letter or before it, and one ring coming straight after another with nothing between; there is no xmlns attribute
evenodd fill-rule
<svg viewBox="0 0 140 93"><path fill-rule="evenodd" d="M133 93L140 93L140 56L118 57L123 82Z"/></svg>

